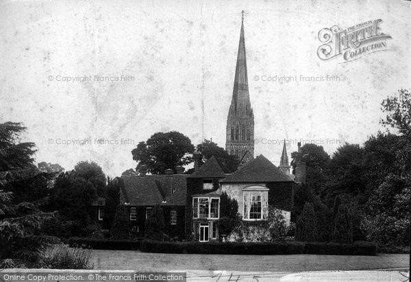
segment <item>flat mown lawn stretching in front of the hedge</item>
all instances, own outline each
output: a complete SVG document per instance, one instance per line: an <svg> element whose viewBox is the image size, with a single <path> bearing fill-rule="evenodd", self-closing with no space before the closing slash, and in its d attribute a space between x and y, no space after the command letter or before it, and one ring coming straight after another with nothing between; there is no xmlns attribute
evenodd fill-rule
<svg viewBox="0 0 411 282"><path fill-rule="evenodd" d="M92 250L91 261L95 269L102 270L301 272L408 268L409 255L179 255L138 250Z"/></svg>

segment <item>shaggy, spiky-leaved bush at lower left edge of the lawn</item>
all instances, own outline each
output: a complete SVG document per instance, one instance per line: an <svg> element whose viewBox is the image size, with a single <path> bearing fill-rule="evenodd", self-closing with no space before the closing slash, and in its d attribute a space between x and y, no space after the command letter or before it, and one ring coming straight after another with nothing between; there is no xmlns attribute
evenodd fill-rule
<svg viewBox="0 0 411 282"><path fill-rule="evenodd" d="M41 268L53 269L92 269L91 250L69 248L64 245L53 246L40 258Z"/></svg>

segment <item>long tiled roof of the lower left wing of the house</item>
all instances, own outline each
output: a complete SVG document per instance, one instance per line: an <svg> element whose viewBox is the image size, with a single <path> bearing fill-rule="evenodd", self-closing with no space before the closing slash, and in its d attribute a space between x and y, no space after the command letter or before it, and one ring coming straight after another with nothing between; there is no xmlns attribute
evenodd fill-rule
<svg viewBox="0 0 411 282"><path fill-rule="evenodd" d="M186 205L188 174L121 176L124 181L121 201L131 206ZM171 191L175 188L175 192Z"/></svg>

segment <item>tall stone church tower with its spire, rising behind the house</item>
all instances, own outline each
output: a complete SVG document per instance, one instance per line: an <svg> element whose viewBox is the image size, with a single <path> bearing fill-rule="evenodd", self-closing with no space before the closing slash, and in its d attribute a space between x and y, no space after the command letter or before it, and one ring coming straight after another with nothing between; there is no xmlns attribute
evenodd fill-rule
<svg viewBox="0 0 411 282"><path fill-rule="evenodd" d="M240 43L234 76L232 103L227 116L225 149L240 159L240 165L254 158L254 114L248 89L247 60L245 58L244 16L241 20Z"/></svg>

